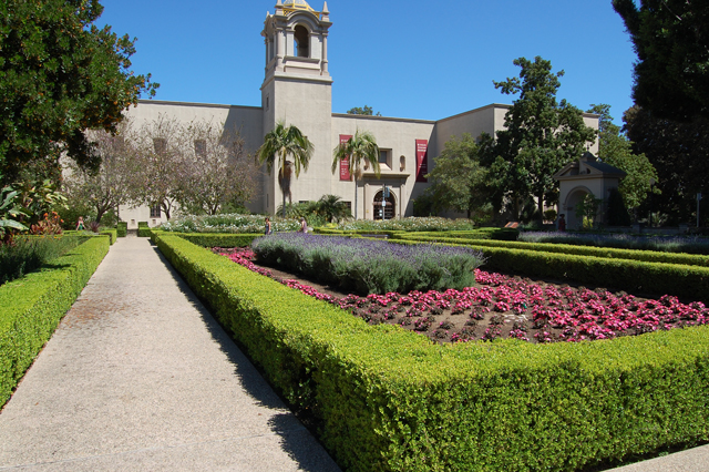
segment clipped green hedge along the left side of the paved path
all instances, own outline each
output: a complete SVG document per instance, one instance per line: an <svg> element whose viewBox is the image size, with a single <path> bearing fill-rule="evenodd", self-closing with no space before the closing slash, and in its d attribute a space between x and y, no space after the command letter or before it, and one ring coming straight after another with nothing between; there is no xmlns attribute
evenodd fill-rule
<svg viewBox="0 0 709 472"><path fill-rule="evenodd" d="M106 236L89 238L42 270L0 287L0 406L96 270L109 245Z"/></svg>

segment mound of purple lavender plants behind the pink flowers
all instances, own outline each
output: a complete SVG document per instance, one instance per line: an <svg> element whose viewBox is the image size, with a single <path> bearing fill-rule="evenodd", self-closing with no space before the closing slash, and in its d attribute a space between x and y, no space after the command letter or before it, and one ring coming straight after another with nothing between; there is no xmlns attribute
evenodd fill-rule
<svg viewBox="0 0 709 472"><path fill-rule="evenodd" d="M358 294L407 293L474 285L483 263L467 247L407 246L381 240L299 233L255 239L251 248L265 265L286 267Z"/></svg>

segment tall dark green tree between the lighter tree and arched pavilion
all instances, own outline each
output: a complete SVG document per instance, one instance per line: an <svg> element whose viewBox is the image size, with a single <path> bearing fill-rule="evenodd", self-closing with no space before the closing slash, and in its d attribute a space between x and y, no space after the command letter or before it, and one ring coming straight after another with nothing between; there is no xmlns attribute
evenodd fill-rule
<svg viewBox="0 0 709 472"><path fill-rule="evenodd" d="M544 202L554 203L558 192L553 175L583 154L596 131L584 124L579 109L566 100L556 101L564 71L553 73L552 63L540 57L513 63L521 68L520 76L493 83L502 93L520 98L505 114L505 130L497 131L483 163L515 217L528 195L536 198L542 217Z"/></svg>

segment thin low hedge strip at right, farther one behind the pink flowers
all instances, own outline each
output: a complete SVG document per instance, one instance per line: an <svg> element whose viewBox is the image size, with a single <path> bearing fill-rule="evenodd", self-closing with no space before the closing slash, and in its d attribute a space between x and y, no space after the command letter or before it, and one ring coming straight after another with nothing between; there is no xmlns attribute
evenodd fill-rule
<svg viewBox="0 0 709 472"><path fill-rule="evenodd" d="M563 253L573 254L577 256L594 256L594 257L607 257L614 259L631 259L641 260L645 263L664 263L664 264L684 264L688 266L703 266L709 267L709 256L682 254L682 253L661 253L657 250L645 249L617 249L610 247L594 247L594 246L574 246L569 244L553 244L553 243L524 243L524 242L503 242L503 240L483 240L472 238L458 238L458 237L439 237L435 235L420 235L420 234L397 234L394 239L419 240L419 242L438 242L438 243L454 243L459 245L467 246L485 246L485 247L500 247L508 249L523 249L523 250L536 250L544 253Z"/></svg>

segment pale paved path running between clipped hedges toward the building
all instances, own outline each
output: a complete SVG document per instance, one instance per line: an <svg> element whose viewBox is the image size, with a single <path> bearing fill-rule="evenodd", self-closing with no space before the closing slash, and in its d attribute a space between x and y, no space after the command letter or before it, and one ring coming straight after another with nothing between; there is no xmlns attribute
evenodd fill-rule
<svg viewBox="0 0 709 472"><path fill-rule="evenodd" d="M0 413L0 471L339 471L146 238L121 238Z"/></svg>

